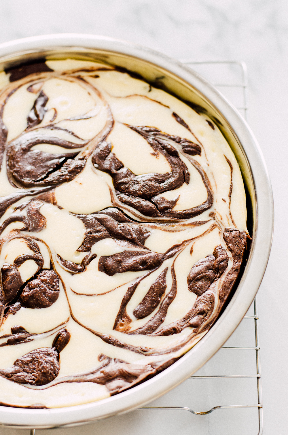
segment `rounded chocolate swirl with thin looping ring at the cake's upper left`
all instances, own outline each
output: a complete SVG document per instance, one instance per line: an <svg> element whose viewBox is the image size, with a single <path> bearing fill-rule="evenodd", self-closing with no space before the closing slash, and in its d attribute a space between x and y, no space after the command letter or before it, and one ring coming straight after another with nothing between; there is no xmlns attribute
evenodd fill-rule
<svg viewBox="0 0 288 435"><path fill-rule="evenodd" d="M49 71L50 68L48 68ZM47 69L44 69L47 71ZM30 76L28 76L30 77ZM40 124L44 120L44 116L47 112L46 106L49 101L49 98L41 90L41 86L45 83L45 81L53 78L59 77L61 80L69 80L70 82L74 82L79 84L81 87L85 87L90 94L94 94L99 97L99 93L93 86L86 82L83 78L79 77L65 77L60 74L54 72L43 72L39 74L37 80L33 78L33 76L28 78L26 75L22 78L20 82L17 81L17 85L12 85L9 90L7 90L6 94L3 94L3 103L0 110L1 117L1 125L2 125L2 142L3 147L2 151L4 151L4 146L6 144L7 139L7 129L3 124L3 108L10 96L13 95L13 92L18 89L19 83L21 84L29 84L27 87L28 91L32 91L33 87L39 87L39 94L34 101L33 107L30 110L30 113L27 117L27 128L26 130L20 134L18 137L10 141L6 144L7 148L7 176L11 184L17 187L32 187L32 186L54 186L59 185L64 182L68 182L73 180L77 174L83 171L87 157L90 155L90 152L97 145L97 142L103 141L111 128L113 127L113 118L111 116L111 111L109 110L107 103L103 100L104 106L107 109L107 123L104 129L98 134L98 137L94 137L91 140L81 139L77 134L73 131L60 127L57 124L53 124L50 121L49 124L40 126ZM14 80L12 80L14 82ZM35 92L37 91L35 90ZM0 101L1 103L1 101ZM54 110L55 119L56 109ZM93 114L84 114L78 117L70 117L68 120L75 119L89 119L94 116ZM39 127L38 127L39 125ZM51 135L51 131L55 134ZM68 136L70 136L70 140L65 140L57 136L57 132L65 132ZM77 138L75 142L74 138ZM95 142L95 144L94 144ZM1 143L0 143L1 144ZM71 153L63 153L63 154L52 154L43 151L35 151L31 148L37 144L50 144L57 145L62 148L75 149L86 147L87 150L84 152L71 152ZM87 147L88 145L88 147ZM90 148L92 147L91 151ZM2 155L2 154L1 154Z"/></svg>

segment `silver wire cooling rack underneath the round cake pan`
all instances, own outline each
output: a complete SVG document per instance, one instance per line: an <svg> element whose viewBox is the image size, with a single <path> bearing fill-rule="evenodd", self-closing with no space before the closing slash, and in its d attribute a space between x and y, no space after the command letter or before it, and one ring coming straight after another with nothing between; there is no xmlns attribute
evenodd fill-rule
<svg viewBox="0 0 288 435"><path fill-rule="evenodd" d="M187 60L183 63L213 83L247 119L244 63ZM81 428L50 429L49 435L261 435L259 351L255 298L247 315L217 354L196 375L150 406ZM46 432L48 435L47 430L32 429L30 435L45 435Z"/></svg>

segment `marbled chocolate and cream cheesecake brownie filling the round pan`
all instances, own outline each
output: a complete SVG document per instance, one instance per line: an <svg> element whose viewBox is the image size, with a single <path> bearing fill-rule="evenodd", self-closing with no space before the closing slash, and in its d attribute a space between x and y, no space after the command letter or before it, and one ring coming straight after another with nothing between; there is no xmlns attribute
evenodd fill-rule
<svg viewBox="0 0 288 435"><path fill-rule="evenodd" d="M227 304L248 237L240 169L208 113L127 70L6 73L0 405L107 398L181 358Z"/></svg>

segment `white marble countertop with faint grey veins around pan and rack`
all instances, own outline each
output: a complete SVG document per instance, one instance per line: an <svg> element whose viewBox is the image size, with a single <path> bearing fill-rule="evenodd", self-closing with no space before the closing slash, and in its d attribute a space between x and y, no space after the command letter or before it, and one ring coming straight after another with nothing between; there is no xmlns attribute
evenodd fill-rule
<svg viewBox="0 0 288 435"><path fill-rule="evenodd" d="M287 2L285 0L242 0L241 2L236 0L41 0L38 2L1 0L0 42L61 32L103 34L140 43L178 59L246 62L250 97L248 121L265 155L275 198L274 242L258 296L261 318L264 433L286 434L288 427L286 368L288 286L285 273L288 261ZM117 420L117 424L121 425L122 429L127 427L127 430L130 430L131 418L130 415L122 416ZM142 421L145 421L146 417L143 418ZM235 414L235 422L237 418L239 416ZM174 419L175 422L177 423L177 420ZM172 426L166 419L162 423L157 433L173 433ZM197 430L194 432L193 427L196 430L196 426L187 426L189 432L183 433L197 433ZM75 435L120 433L115 429L115 425L109 422L102 425L101 430L96 432L95 429L94 426L87 426L70 430L70 433ZM151 427L149 423L147 430L144 432L139 430L136 433L150 434L156 433L155 431L156 428ZM27 431L24 432L26 434ZM12 435L18 434L18 431L0 429L0 433ZM55 430L55 434L57 433L58 431ZM65 431L66 433L68 434L69 431ZM203 433L214 434L213 429L209 427L207 432L204 430Z"/></svg>

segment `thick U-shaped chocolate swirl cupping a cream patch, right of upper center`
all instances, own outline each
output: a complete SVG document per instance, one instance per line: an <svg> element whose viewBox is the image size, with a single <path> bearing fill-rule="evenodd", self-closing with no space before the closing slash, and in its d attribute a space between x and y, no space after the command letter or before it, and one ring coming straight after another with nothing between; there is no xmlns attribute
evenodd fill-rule
<svg viewBox="0 0 288 435"><path fill-rule="evenodd" d="M207 189L207 200L189 210L172 210L176 201L167 201L160 195L164 192L175 190L188 184L190 174L187 166L179 157L177 149L172 145L180 144L186 154L201 155L201 148L188 139L181 139L178 136L171 136L161 132L155 127L136 127L128 125L131 130L141 134L153 150L161 153L171 166L171 172L165 174L144 174L135 175L130 169L124 167L123 163L111 152L112 144L102 142L92 155L92 163L100 171L107 172L113 179L117 198L124 204L136 208L144 216L189 219L198 216L208 210L213 203L213 194L207 175L200 168L197 162L191 161L194 167L201 174L204 185Z"/></svg>

